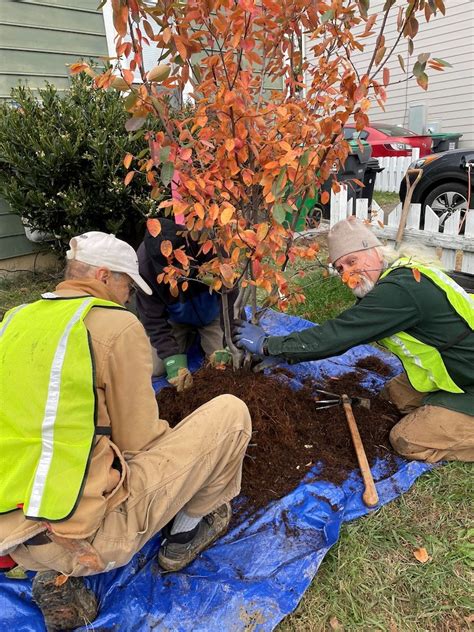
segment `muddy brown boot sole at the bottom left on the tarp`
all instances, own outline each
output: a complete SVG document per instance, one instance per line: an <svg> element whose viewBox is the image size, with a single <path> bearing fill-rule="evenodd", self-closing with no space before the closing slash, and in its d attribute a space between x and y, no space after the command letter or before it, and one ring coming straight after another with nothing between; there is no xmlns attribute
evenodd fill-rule
<svg viewBox="0 0 474 632"><path fill-rule="evenodd" d="M48 632L74 630L94 621L97 599L82 577L69 577L62 585L57 571L41 571L33 579L33 600L39 606Z"/></svg>

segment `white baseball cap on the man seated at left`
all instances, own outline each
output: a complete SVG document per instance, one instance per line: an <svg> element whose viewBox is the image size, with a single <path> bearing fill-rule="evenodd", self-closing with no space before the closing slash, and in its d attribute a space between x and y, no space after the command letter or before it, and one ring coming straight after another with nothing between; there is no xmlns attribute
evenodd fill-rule
<svg viewBox="0 0 474 632"><path fill-rule="evenodd" d="M135 281L145 294L152 294L150 286L138 273L138 258L135 250L115 235L91 230L73 237L66 257L98 268L104 266L112 272L122 272Z"/></svg>

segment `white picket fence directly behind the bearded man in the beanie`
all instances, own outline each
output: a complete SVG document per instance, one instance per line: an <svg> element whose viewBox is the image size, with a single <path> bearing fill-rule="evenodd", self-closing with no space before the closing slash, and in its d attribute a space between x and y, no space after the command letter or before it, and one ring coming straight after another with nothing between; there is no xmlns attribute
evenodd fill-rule
<svg viewBox="0 0 474 632"><path fill-rule="evenodd" d="M353 200L347 199L347 188L342 186L339 193L331 194L331 215L329 224L333 226L341 219L356 215L359 219L370 222L374 233L387 243L394 243L400 224L402 205L399 204L389 215L387 223L383 223L383 211L375 202L369 217L368 200L358 199L353 209ZM456 211L444 223L444 230L439 232L439 218L427 206L425 222L420 229L421 204L412 204L408 212L403 242L423 244L428 248L441 249L441 261L447 270L458 269L461 272L474 274L474 209L465 218L465 232L459 234L461 212Z"/></svg>

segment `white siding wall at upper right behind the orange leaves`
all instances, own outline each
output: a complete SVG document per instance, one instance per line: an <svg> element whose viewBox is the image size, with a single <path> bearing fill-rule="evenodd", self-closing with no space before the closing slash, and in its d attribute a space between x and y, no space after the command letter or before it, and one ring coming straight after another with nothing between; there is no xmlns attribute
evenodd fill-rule
<svg viewBox="0 0 474 632"><path fill-rule="evenodd" d="M381 12L384 0L372 0L370 12ZM402 3L406 4L406 3ZM407 43L401 39L397 50L388 63L391 72L387 94L386 111L377 104L369 111L372 122L386 122L394 125L408 125L410 105L424 104L427 110L426 122L438 122L442 132L461 132L460 147L474 146L474 1L447 0L446 15L438 13L426 23L419 18L420 30L415 37L415 50L408 56ZM396 11L385 30L387 47L396 39ZM379 24L381 19L379 18ZM362 40L363 41L363 40ZM373 50L373 42L366 40L368 50ZM407 69L413 67L417 55L430 53L452 64L443 72L428 70L428 91L422 90L414 79L396 83L406 75L402 72L397 54L405 60ZM363 74L371 53L354 55L353 62ZM379 73L381 81L381 73Z"/></svg>

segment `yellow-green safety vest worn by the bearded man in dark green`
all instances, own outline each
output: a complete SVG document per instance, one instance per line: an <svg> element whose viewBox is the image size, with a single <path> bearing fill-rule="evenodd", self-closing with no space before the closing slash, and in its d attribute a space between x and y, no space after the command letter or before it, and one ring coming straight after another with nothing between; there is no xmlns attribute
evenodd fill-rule
<svg viewBox="0 0 474 632"><path fill-rule="evenodd" d="M446 294L454 311L473 329L474 301L447 274L436 268L428 268L412 259L402 258L396 261L382 275L381 279L397 268L416 268L429 278L440 290ZM389 351L400 358L408 379L413 388L421 393L443 390L449 393L463 393L464 391L453 381L443 362L440 352L433 346L421 342L414 336L402 331L388 338L378 341Z"/></svg>

